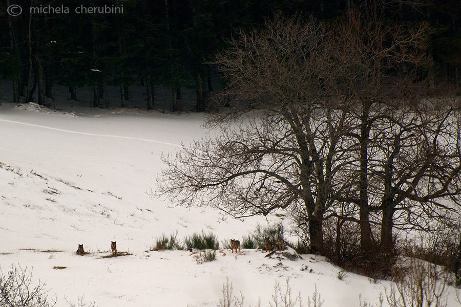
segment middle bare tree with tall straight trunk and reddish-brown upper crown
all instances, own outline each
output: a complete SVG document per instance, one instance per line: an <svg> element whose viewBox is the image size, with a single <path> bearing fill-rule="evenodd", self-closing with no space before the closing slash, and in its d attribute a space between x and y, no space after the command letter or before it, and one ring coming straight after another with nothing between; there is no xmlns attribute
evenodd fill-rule
<svg viewBox="0 0 461 307"><path fill-rule="evenodd" d="M357 158L351 168L357 174L353 189L338 200L358 206L361 246L369 252L376 244L370 213L379 210L370 195L370 161L381 142L375 130L387 133L389 125L380 126L385 119L403 106L420 103L424 84L413 80L431 65L425 52L430 31L427 24L410 28L391 23L367 7L352 10L336 31L329 49L336 70L327 86L338 92L340 102L353 105L350 141Z"/></svg>

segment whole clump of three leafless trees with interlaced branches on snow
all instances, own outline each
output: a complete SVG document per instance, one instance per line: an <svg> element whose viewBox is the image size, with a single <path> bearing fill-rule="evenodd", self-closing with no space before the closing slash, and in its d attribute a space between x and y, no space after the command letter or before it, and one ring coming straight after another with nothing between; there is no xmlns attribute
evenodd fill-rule
<svg viewBox="0 0 461 307"><path fill-rule="evenodd" d="M454 105L423 99L428 35L360 11L240 33L215 61L218 137L163 156L158 195L236 217L287 210L320 253L330 217L358 223L364 253L379 236L392 248L396 212L441 220L460 194L461 126Z"/></svg>

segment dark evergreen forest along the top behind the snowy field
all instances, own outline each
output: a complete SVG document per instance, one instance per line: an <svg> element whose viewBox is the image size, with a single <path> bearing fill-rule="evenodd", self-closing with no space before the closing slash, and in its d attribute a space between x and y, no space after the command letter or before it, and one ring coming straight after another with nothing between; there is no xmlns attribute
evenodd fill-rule
<svg viewBox="0 0 461 307"><path fill-rule="evenodd" d="M6 0L0 5L1 74L12 82L15 103L38 97L39 104L50 104L57 85L68 86L69 98L76 100L76 89L90 86L93 106L105 107L104 88L111 85L120 88L116 104L127 106L130 86L141 84L148 109L161 86L170 93L171 111L184 89L196 92L196 111L206 111L207 98L221 84L212 82L216 72L206 61L237 29L258 28L277 14L334 20L362 2ZM22 14L12 16L12 5ZM437 81L459 82L459 1L370 0L367 6L397 23L428 21Z"/></svg>

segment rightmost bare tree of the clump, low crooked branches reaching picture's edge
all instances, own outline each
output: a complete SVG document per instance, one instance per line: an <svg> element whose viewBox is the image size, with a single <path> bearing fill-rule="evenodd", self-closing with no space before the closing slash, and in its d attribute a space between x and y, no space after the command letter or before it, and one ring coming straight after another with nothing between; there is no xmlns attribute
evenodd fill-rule
<svg viewBox="0 0 461 307"><path fill-rule="evenodd" d="M392 123L382 123L378 159L370 161L383 250L393 249L395 223L424 231L451 225L461 195L459 111L426 102L395 113Z"/></svg>

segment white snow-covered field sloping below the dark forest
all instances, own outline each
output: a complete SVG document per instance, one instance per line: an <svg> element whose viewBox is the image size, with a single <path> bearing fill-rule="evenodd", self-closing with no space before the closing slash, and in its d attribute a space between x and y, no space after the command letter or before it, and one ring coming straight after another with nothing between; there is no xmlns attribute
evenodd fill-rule
<svg viewBox="0 0 461 307"><path fill-rule="evenodd" d="M5 98L6 97L6 98ZM205 136L201 114L35 104L0 105L0 268L32 270L58 306L78 297L96 306L219 306L228 278L244 306L269 306L274 286L302 303L317 288L324 307L373 304L389 282L345 273L322 257L290 261L259 250L218 250L198 264L188 251L149 251L155 239L178 232L213 232L222 242L242 239L276 217L234 220L210 208L173 207L154 199L161 152ZM288 237L288 239L290 239ZM111 240L119 252L110 254ZM292 238L295 240L295 238ZM88 254L76 255L78 244ZM64 269L54 269L65 267ZM273 305L274 302L272 302ZM448 306L459 306L450 289Z"/></svg>

